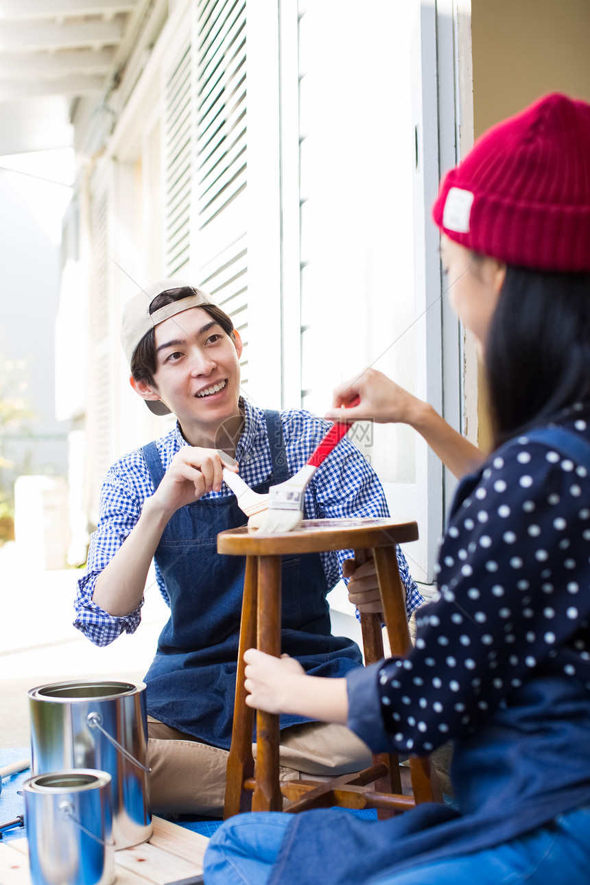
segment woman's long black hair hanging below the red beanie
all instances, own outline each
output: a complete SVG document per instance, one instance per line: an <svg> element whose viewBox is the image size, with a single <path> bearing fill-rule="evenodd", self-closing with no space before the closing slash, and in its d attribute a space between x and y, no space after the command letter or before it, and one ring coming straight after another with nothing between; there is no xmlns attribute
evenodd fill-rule
<svg viewBox="0 0 590 885"><path fill-rule="evenodd" d="M590 273L507 266L486 341L500 445L575 403L590 404Z"/></svg>

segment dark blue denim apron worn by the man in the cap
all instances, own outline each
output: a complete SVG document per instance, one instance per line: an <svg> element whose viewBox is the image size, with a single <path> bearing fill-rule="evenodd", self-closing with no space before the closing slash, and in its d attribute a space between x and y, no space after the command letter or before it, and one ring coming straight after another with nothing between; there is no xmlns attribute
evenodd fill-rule
<svg viewBox="0 0 590 885"><path fill-rule="evenodd" d="M266 412L272 473L260 494L289 478L279 412ZM154 488L164 476L155 443L143 447ZM148 712L204 743L229 748L246 560L221 556L217 536L245 524L234 495L201 498L174 513L155 559L170 620L145 677ZM344 676L362 663L352 640L331 634L326 574L318 553L283 557L281 651L307 673ZM280 727L310 721L283 715Z"/></svg>

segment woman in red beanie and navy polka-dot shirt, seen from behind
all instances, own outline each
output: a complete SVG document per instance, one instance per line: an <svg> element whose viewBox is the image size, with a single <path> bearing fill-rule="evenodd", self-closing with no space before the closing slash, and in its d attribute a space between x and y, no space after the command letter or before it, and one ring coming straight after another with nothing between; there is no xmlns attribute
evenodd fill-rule
<svg viewBox="0 0 590 885"><path fill-rule="evenodd" d="M334 407L360 396L351 418L407 420L456 473L475 469L448 517L441 599L405 661L328 686L249 650L246 688L252 706L347 722L373 750L453 739L459 811L241 815L211 839L207 885L588 881L590 105L551 95L491 129L433 217L485 360L494 452L481 463L379 373Z"/></svg>

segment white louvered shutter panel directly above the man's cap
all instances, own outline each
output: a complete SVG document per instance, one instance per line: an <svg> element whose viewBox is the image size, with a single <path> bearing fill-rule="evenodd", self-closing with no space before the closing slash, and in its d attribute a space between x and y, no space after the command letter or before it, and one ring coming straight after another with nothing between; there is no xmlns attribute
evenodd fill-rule
<svg viewBox="0 0 590 885"><path fill-rule="evenodd" d="M196 4L196 135L192 230L195 281L234 320L248 390L246 3Z"/></svg>

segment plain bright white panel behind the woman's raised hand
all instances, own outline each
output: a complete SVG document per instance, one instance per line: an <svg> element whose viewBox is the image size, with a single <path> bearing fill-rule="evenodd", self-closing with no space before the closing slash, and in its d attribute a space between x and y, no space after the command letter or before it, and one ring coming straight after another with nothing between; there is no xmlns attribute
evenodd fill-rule
<svg viewBox="0 0 590 885"><path fill-rule="evenodd" d="M303 404L374 365L414 387L411 4L309 4L300 25ZM375 427L373 466L413 482L407 427Z"/></svg>

